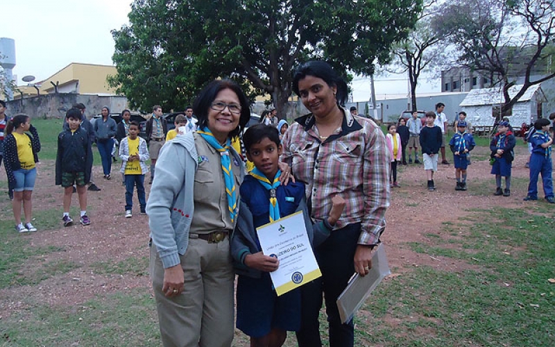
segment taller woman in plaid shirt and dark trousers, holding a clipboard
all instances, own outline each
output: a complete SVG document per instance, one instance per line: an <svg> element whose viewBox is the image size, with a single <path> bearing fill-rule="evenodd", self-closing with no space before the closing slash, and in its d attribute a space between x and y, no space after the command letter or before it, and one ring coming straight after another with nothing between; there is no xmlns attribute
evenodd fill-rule
<svg viewBox="0 0 555 347"><path fill-rule="evenodd" d="M311 112L293 122L283 138L282 160L305 183L314 221L326 221L332 197L345 199L345 210L330 237L314 253L322 271L302 286L299 346L322 346L318 312L325 294L330 346L353 346L352 320L341 322L336 299L355 271L372 266L370 251L379 243L389 205L389 163L384 133L373 121L353 116L342 106L347 85L326 62L301 65L293 91Z"/></svg>

